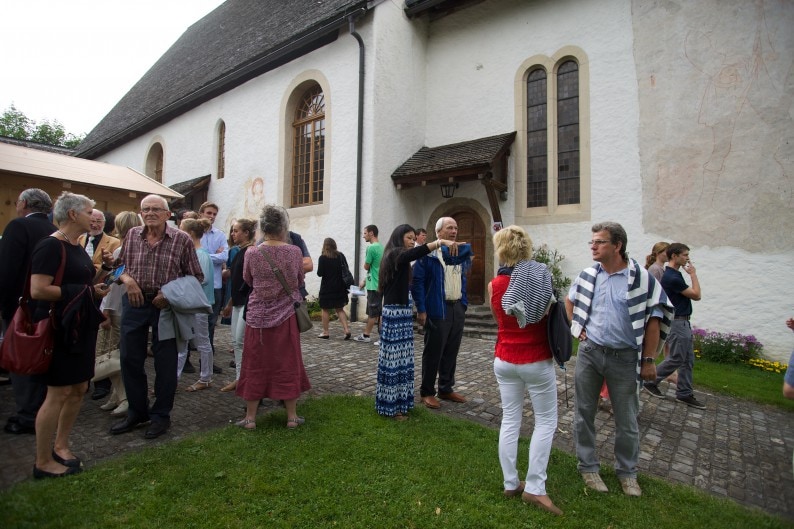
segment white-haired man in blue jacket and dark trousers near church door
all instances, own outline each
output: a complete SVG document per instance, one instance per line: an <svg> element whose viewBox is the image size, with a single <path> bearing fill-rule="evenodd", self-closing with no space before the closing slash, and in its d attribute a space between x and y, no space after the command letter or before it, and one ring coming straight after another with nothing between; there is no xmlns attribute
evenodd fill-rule
<svg viewBox="0 0 794 529"><path fill-rule="evenodd" d="M457 237L455 219L438 219L436 239L455 241ZM456 243L452 251L442 246L414 263L411 294L416 303L416 321L425 327L419 395L428 408L441 407L436 398L436 377L439 398L466 402L463 395L454 391L454 385L468 307L466 275L471 257L471 245Z"/></svg>

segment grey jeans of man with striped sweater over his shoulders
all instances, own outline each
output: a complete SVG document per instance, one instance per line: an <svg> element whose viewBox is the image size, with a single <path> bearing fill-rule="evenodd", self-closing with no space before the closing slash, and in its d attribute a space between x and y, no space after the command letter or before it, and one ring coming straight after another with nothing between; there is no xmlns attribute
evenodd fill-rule
<svg viewBox="0 0 794 529"><path fill-rule="evenodd" d="M595 415L598 394L606 380L615 419L615 473L619 478L636 477L640 453L638 362L639 353L633 349L610 349L590 340L579 344L573 430L579 472L599 470Z"/></svg>

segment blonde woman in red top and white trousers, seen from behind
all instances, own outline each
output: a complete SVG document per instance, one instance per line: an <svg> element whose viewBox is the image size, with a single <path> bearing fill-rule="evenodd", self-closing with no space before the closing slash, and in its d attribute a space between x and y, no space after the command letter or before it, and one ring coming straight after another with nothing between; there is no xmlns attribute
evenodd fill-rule
<svg viewBox="0 0 794 529"><path fill-rule="evenodd" d="M506 314L502 308L502 297L510 283L514 267L532 257L532 240L523 228L508 226L496 232L493 242L501 267L497 276L488 284L488 295L491 312L498 326L494 374L502 397L499 462L504 475L504 494L508 497L521 494L524 502L561 515L562 511L546 495L546 467L554 431L557 429L557 380L546 335L548 316L521 328L517 319ZM529 264L537 265L534 262ZM526 270L526 267L522 269ZM551 281L548 274L520 279L525 285L536 285L541 280ZM547 288L546 295L548 291ZM533 294L538 293L531 289L525 292L529 297ZM535 427L529 444L526 481L519 481L516 456L527 391L532 401Z"/></svg>

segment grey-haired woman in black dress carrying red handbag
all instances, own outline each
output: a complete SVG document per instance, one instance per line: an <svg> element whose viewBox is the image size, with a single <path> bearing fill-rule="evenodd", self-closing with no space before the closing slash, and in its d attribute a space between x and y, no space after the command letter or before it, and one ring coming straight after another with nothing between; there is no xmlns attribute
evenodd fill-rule
<svg viewBox="0 0 794 529"><path fill-rule="evenodd" d="M34 321L48 316L55 303L55 347L47 373L47 397L36 415L36 479L77 474L82 462L69 446L77 414L94 376L94 356L102 313L96 299L107 293L99 283L107 275L113 257L105 252L102 269L96 272L91 257L77 239L89 231L94 201L64 191L55 202L53 217L58 230L36 246L31 261L30 295L38 301ZM65 256L63 279L54 285ZM53 445L53 437L55 444Z"/></svg>

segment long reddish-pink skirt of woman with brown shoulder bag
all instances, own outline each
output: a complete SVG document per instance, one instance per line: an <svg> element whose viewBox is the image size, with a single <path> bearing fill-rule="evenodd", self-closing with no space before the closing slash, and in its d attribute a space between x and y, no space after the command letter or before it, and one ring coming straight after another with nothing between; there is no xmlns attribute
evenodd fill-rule
<svg viewBox="0 0 794 529"><path fill-rule="evenodd" d="M244 400L291 400L311 389L295 316L267 329L245 326L236 394Z"/></svg>

